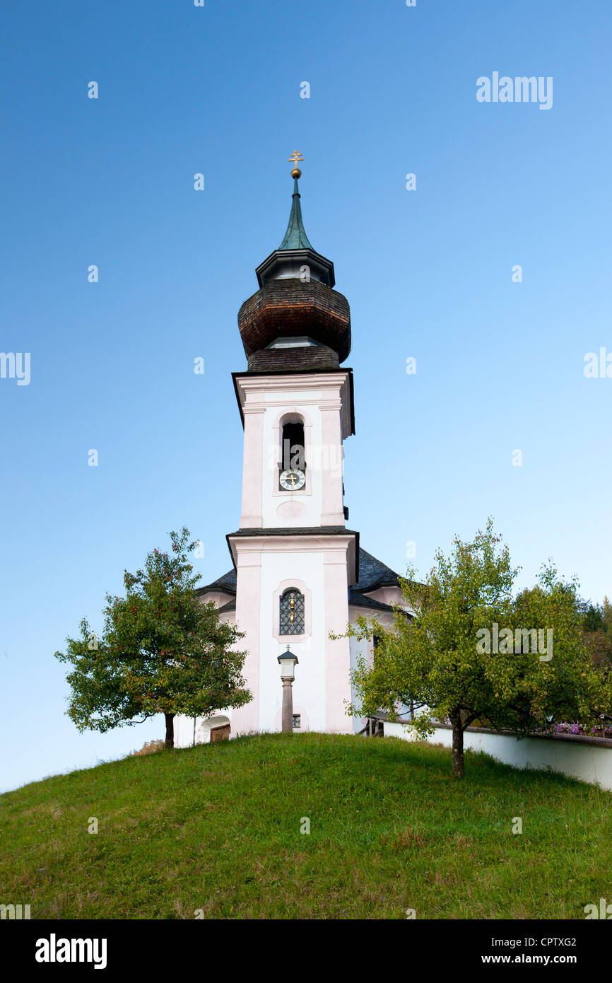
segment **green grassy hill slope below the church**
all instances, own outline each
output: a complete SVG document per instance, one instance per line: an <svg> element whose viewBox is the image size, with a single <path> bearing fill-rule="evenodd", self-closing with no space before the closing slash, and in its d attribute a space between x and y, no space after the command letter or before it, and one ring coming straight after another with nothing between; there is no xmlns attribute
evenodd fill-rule
<svg viewBox="0 0 612 983"><path fill-rule="evenodd" d="M611 890L611 793L395 738L131 757L0 796L0 833L32 918L583 919Z"/></svg>

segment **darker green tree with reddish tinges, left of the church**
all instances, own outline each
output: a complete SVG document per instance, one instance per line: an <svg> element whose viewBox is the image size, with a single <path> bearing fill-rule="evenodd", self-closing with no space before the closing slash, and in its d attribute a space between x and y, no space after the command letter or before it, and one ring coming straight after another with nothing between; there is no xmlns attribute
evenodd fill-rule
<svg viewBox="0 0 612 983"><path fill-rule="evenodd" d="M177 714L207 717L252 699L242 677L246 653L234 649L244 632L222 621L212 603L199 602L189 531L170 539L172 554L153 549L142 569L125 571L125 598L106 595L100 638L83 619L81 637L55 653L74 666L67 714L82 731L103 733L163 714L171 748Z"/></svg>

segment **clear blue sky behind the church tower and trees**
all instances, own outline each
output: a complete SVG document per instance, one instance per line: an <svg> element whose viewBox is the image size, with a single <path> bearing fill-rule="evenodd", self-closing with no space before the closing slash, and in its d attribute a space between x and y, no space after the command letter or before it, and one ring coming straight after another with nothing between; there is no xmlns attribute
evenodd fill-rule
<svg viewBox="0 0 612 983"><path fill-rule="evenodd" d="M31 368L0 378L0 787L162 736L80 735L52 654L171 529L202 584L230 568L236 318L296 146L351 304L363 548L403 572L414 541L424 572L493 515L521 585L550 556L612 594L612 378L584 377L612 352L611 32L609 0L4 5L0 348ZM495 71L552 77L552 108L478 102Z"/></svg>

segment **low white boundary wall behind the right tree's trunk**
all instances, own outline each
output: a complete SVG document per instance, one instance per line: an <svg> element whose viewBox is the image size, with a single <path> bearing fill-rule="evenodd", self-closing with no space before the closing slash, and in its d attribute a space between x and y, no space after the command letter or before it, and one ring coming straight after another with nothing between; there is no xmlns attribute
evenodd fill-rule
<svg viewBox="0 0 612 983"><path fill-rule="evenodd" d="M414 731L404 723L384 722L385 737L417 740ZM427 738L432 744L451 747L450 727L436 727ZM515 768L550 768L573 779L599 784L612 790L612 740L606 745L592 743L588 738L524 737L491 733L488 730L468 729L464 732L464 747L484 751L504 765Z"/></svg>

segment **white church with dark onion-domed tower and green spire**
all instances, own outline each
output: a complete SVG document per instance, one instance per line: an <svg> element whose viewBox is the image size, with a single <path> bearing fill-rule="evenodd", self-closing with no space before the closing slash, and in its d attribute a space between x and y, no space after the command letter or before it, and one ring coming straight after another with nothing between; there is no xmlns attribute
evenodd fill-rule
<svg viewBox="0 0 612 983"><path fill-rule="evenodd" d="M233 569L199 590L246 637L249 704L206 721L180 718L177 746L281 729L278 656L299 665L294 730L349 733L355 640L332 640L358 614L392 621L401 600L397 574L360 549L344 504L344 440L355 433L347 299L334 266L316 253L302 220L298 151L294 194L280 247L256 269L259 289L240 309L248 359L234 373L245 430L242 514L227 536ZM360 647L362 651L362 646Z"/></svg>

